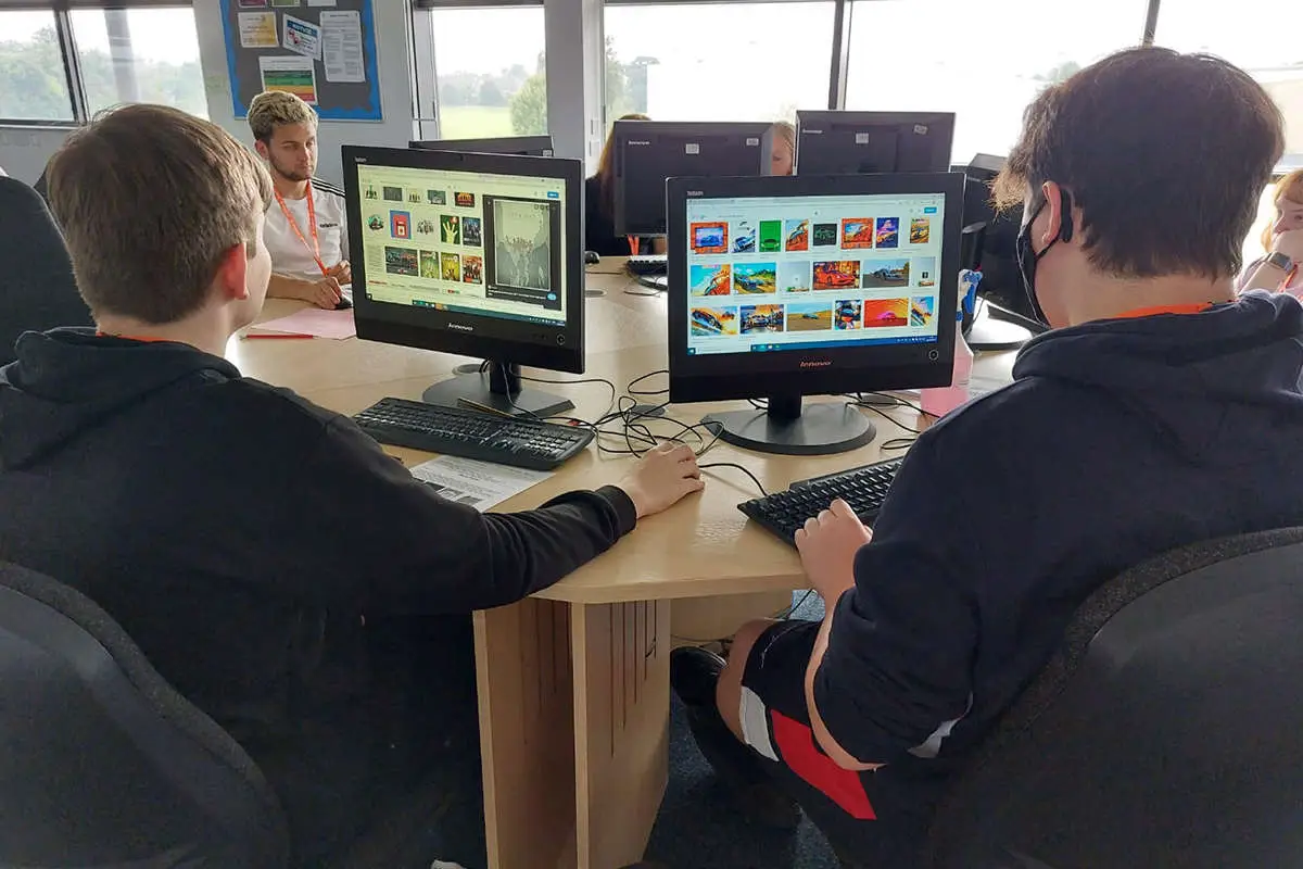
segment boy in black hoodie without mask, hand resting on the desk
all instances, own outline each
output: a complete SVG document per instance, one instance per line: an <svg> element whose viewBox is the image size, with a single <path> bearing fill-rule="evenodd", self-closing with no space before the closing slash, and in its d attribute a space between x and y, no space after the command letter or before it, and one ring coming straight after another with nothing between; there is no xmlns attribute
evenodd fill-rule
<svg viewBox="0 0 1303 869"><path fill-rule="evenodd" d="M241 377L223 352L267 289L271 198L231 135L158 106L55 156L50 199L99 330L29 332L0 369L0 558L95 599L242 743L308 864L431 770L461 770L450 797L474 809L468 614L556 582L702 483L666 447L619 486L481 515L348 418Z"/></svg>

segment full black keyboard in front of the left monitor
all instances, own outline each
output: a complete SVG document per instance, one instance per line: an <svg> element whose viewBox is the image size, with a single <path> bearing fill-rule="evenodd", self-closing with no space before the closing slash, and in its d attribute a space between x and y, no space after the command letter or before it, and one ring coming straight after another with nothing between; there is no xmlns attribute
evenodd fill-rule
<svg viewBox="0 0 1303 869"><path fill-rule="evenodd" d="M380 399L353 422L380 443L532 470L551 470L593 440L589 429L407 399Z"/></svg>

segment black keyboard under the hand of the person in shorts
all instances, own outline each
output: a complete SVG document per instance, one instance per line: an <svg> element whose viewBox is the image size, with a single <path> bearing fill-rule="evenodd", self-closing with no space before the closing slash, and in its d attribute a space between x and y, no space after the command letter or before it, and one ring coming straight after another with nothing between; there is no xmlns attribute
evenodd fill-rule
<svg viewBox="0 0 1303 869"><path fill-rule="evenodd" d="M792 546L796 545L796 529L821 509L827 509L838 498L851 506L861 522L872 526L902 461L903 459L889 459L826 477L803 479L792 483L787 491L743 502L737 504L737 509Z"/></svg>

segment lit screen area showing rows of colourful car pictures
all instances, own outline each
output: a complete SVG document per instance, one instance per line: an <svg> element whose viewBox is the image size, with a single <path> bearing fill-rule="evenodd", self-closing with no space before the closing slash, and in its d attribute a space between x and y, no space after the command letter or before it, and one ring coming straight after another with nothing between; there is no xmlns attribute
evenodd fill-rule
<svg viewBox="0 0 1303 869"><path fill-rule="evenodd" d="M937 340L943 194L687 210L689 356Z"/></svg>

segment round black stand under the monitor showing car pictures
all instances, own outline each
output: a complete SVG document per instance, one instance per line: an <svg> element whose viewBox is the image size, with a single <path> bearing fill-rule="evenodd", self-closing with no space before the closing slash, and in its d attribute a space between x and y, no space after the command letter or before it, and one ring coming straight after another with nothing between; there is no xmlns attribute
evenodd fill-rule
<svg viewBox="0 0 1303 869"><path fill-rule="evenodd" d="M873 440L873 423L846 401L808 404L801 397L770 396L766 410L711 413L704 425L723 426L719 439L757 452L782 456L826 456Z"/></svg>

